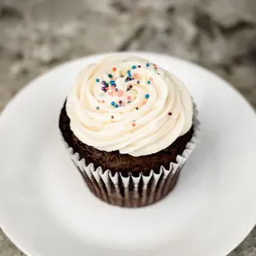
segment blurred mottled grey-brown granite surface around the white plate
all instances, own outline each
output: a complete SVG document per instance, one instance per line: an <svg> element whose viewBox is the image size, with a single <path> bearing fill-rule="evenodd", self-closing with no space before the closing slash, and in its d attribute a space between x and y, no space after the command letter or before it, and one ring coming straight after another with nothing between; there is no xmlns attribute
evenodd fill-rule
<svg viewBox="0 0 256 256"><path fill-rule="evenodd" d="M256 107L255 0L0 0L0 35L0 110L56 64L110 50L191 60ZM0 255L24 255L1 230ZM229 256L255 255L256 230Z"/></svg>

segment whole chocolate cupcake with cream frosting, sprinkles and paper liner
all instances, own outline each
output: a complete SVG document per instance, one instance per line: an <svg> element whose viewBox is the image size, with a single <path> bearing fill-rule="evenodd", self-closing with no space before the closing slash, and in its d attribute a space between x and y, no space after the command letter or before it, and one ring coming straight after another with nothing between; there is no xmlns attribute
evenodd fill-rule
<svg viewBox="0 0 256 256"><path fill-rule="evenodd" d="M184 84L147 59L112 55L79 74L59 130L91 192L115 206L148 206L173 190L197 143Z"/></svg>

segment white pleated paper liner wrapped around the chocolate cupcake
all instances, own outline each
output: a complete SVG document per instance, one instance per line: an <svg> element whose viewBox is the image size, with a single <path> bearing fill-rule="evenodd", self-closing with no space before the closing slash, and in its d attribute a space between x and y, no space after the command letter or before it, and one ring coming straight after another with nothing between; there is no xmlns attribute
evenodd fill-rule
<svg viewBox="0 0 256 256"><path fill-rule="evenodd" d="M197 119L198 111L194 104L192 139L187 143L182 155L176 157L176 162L171 162L169 168L163 166L159 170L151 170L149 174L140 173L126 176L121 172L111 173L111 170L103 170L102 167L94 168L92 163L86 164L77 152L64 141L73 164L78 168L91 192L102 201L114 206L141 207L149 206L161 200L173 190L178 181L178 176L183 164L197 145L200 135L200 122ZM61 135L64 140L63 136Z"/></svg>

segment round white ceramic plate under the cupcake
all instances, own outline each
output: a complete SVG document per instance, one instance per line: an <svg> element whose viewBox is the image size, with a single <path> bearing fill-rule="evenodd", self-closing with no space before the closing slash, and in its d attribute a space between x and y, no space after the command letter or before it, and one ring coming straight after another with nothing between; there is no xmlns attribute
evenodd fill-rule
<svg viewBox="0 0 256 256"><path fill-rule="evenodd" d="M75 76L94 55L63 64L24 88L0 118L0 221L31 256L228 254L256 222L256 117L229 84L195 64L135 53L187 85L201 142L174 191L123 209L94 197L59 139L58 118Z"/></svg>

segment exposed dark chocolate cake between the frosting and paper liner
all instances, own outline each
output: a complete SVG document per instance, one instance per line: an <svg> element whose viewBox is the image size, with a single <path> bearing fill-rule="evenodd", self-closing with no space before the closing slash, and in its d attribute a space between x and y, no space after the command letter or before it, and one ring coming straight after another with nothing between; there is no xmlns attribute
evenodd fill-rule
<svg viewBox="0 0 256 256"><path fill-rule="evenodd" d="M178 154L183 154L187 142L192 139L194 132L192 126L187 134L179 137L172 145L169 145L168 148L155 154L133 157L130 154L120 154L118 150L107 152L83 144L70 129L70 120L66 112L65 104L59 116L59 129L65 142L69 147L73 148L75 152L78 152L80 158L85 159L87 164L93 163L95 168L102 167L103 170L110 169L113 174L120 172L123 175L130 173L133 173L133 175L149 173L151 170L159 170L161 166L168 168L171 162L174 163L176 161Z"/></svg>

